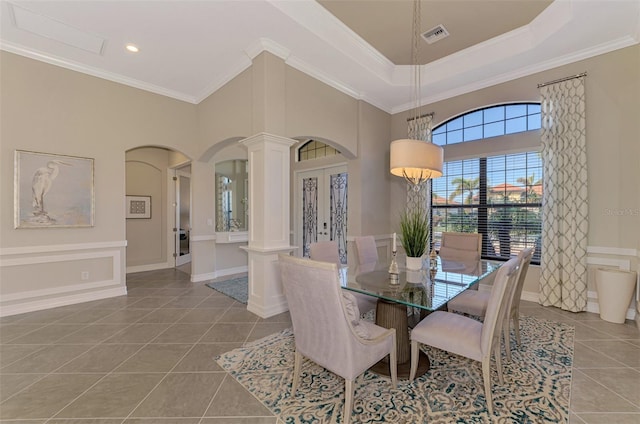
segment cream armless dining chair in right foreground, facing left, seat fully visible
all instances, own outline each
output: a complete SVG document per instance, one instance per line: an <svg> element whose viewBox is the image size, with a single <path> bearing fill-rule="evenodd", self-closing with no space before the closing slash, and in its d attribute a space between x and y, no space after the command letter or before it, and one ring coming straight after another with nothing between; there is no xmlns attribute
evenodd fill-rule
<svg viewBox="0 0 640 424"><path fill-rule="evenodd" d="M498 269L484 322L463 315L435 311L427 315L411 330L411 371L413 381L418 367L419 344L426 344L479 361L482 363L485 398L489 414L493 414L491 400L491 355L495 357L500 384L502 362L500 357L500 329L506 313L504 296L518 275L518 258L507 261Z"/></svg>

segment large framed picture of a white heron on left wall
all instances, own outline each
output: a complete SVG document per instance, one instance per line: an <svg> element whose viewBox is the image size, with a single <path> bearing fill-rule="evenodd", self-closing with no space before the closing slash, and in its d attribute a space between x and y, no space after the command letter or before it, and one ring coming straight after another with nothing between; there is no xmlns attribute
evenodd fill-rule
<svg viewBox="0 0 640 424"><path fill-rule="evenodd" d="M14 227L93 227L94 159L16 150Z"/></svg>

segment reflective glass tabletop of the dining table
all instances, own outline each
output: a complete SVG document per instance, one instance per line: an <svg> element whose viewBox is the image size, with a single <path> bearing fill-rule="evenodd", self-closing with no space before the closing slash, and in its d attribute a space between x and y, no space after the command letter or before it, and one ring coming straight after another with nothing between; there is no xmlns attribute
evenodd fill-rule
<svg viewBox="0 0 640 424"><path fill-rule="evenodd" d="M427 261L428 262L428 261ZM438 258L438 269L412 271L400 268L397 283L390 278L388 264L342 279L343 288L379 299L434 311L495 272L502 262L461 262Z"/></svg>

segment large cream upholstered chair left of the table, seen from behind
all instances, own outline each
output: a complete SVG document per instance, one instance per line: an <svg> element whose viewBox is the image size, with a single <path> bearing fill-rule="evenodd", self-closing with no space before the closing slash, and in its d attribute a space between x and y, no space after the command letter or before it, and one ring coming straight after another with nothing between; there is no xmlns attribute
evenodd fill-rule
<svg viewBox="0 0 640 424"><path fill-rule="evenodd" d="M360 374L389 356L391 384L397 386L396 331L360 319L351 293L340 287L337 264L282 254L278 262L295 339L291 394L308 358L344 378L342 422L349 423Z"/></svg>

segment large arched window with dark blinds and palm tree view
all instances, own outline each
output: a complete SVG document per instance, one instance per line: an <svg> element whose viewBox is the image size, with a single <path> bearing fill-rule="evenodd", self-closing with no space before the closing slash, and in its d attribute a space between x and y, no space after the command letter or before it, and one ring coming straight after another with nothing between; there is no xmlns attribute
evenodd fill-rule
<svg viewBox="0 0 640 424"><path fill-rule="evenodd" d="M505 104L440 124L433 129L433 141L446 151L454 143L497 141L497 137L538 129L539 103ZM513 137L505 137L505 143L513 142ZM483 257L507 260L534 247L532 262L540 263L542 160L538 151L447 160L443 176L432 180L431 204L436 247L443 231L478 232L483 235Z"/></svg>

